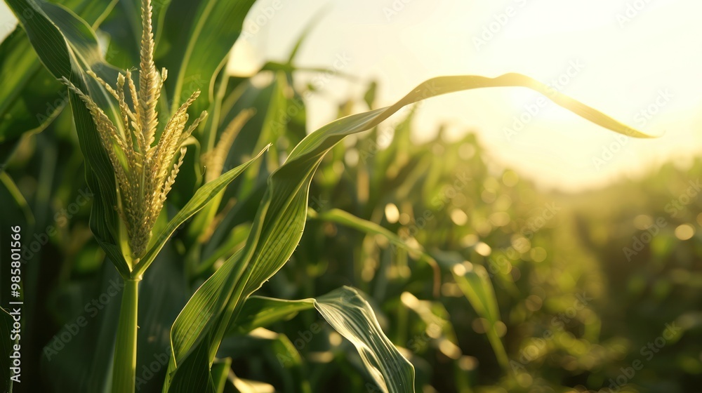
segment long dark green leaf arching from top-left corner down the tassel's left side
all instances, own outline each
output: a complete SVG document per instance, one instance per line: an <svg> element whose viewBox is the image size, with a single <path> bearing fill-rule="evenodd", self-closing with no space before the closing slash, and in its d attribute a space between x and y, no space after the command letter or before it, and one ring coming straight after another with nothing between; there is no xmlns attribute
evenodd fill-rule
<svg viewBox="0 0 702 393"><path fill-rule="evenodd" d="M116 75L116 70L102 60L98 39L88 23L67 8L48 2L6 0L6 3L18 16L39 59L55 78L67 76L74 86L90 92L101 107L112 108L107 114L116 112L102 87L84 74L91 67L105 80L114 80ZM102 148L90 112L74 93L69 92L68 98L86 160L86 180L93 193L100 195L91 206L91 229L121 276L128 277L129 267L116 241L119 218L114 210L117 192L112 164Z"/></svg>

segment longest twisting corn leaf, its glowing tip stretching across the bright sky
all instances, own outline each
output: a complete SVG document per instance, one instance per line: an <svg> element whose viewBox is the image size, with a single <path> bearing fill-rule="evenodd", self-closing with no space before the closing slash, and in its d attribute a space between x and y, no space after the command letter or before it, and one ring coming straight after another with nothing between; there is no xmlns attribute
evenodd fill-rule
<svg viewBox="0 0 702 393"><path fill-rule="evenodd" d="M395 105L346 116L327 124L307 135L293 149L285 164L270 175L246 246L198 288L178 315L171 329L173 353L168 364L164 392L171 391L171 387L174 391L180 389L173 378L181 371L190 373L190 368L202 370L208 367L208 364L194 365L192 361L185 361L194 352L201 354L202 347L206 346L209 348L208 361L211 362L230 321L235 319L246 298L270 279L291 257L305 227L307 193L312 175L329 149L346 135L377 126L404 105L454 91L505 86L529 87L548 93L557 104L612 131L640 138L648 136L519 74L505 74L496 78L442 76L430 79ZM207 389L204 385L199 388Z"/></svg>

